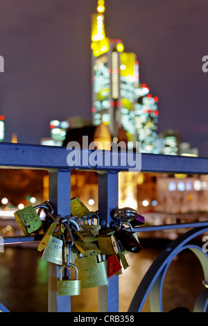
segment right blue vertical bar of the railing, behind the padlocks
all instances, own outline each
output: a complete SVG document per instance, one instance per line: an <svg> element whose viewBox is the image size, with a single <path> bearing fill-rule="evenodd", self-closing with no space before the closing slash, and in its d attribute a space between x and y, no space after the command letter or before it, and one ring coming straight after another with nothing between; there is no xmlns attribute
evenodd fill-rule
<svg viewBox="0 0 208 326"><path fill-rule="evenodd" d="M98 211L105 225L110 225L110 211L118 206L118 173L98 175ZM98 312L119 311L119 276L109 278L107 285L98 287Z"/></svg>

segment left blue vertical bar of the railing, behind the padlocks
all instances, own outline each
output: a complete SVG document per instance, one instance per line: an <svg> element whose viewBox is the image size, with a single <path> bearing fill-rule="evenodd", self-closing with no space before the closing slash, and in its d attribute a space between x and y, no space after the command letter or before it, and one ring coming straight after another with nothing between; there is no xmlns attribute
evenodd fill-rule
<svg viewBox="0 0 208 326"><path fill-rule="evenodd" d="M71 214L71 171L58 170L49 173L49 200L55 213ZM49 263L49 312L70 312L71 297L57 294L57 277L60 267Z"/></svg>

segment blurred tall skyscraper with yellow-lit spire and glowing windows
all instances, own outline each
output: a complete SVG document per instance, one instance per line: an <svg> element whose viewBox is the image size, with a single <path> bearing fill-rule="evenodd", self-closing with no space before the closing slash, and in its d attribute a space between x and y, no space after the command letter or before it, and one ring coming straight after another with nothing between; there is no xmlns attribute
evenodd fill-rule
<svg viewBox="0 0 208 326"><path fill-rule="evenodd" d="M98 0L92 15L92 123L101 121L112 137L125 129L128 145L142 141L142 150L153 153L157 138L157 101L139 82L135 53L124 51L120 39L105 35L105 1Z"/></svg>

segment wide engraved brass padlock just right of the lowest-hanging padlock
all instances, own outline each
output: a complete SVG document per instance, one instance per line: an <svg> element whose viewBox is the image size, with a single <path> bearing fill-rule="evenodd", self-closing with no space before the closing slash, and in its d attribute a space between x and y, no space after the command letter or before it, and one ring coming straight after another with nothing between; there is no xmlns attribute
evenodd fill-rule
<svg viewBox="0 0 208 326"><path fill-rule="evenodd" d="M97 256L96 268L89 269L87 271L80 271L79 276L81 280L82 289L89 289L95 286L107 285L107 261L102 261L102 256Z"/></svg>

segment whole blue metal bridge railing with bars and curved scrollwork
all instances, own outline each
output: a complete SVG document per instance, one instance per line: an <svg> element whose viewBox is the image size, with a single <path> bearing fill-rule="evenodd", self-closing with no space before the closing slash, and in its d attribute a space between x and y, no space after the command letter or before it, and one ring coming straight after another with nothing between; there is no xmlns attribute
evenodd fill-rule
<svg viewBox="0 0 208 326"><path fill-rule="evenodd" d="M72 151L72 150L71 150ZM80 151L79 155L87 153L87 157L93 153L93 151L86 149L73 149L75 155ZM96 171L98 173L98 211L100 218L104 221L106 226L110 225L110 212L114 207L118 206L119 196L119 181L118 173L121 171L129 171L132 166L121 165L121 155L123 153L110 152L110 162L116 162L114 155L119 155L118 164L105 166L100 164L96 166L96 162L85 164L80 160L80 164L76 166L69 166L67 164L67 156L70 151L67 148L51 147L51 146L36 146L25 144L0 144L0 167L6 169L41 169L49 171L49 200L55 212L61 216L69 215L71 212L71 170L85 170ZM105 151L101 151L103 157ZM134 160L137 160L139 153L132 153ZM86 157L86 156L85 156ZM103 160L105 162L105 160ZM141 171L143 172L155 172L155 173L191 173L191 174L208 174L208 158L200 157L183 157L172 155L141 155ZM136 231L146 232L152 230L164 230L167 228L197 228L198 232L205 232L208 228L208 222L199 223L183 223L183 225L155 225L153 227L139 228ZM148 293L151 293L151 302L157 302L152 304L153 311L162 311L162 290L161 285L164 279L164 274L168 264L174 257L174 252L180 252L185 248L185 243L189 239L192 239L195 233L188 234L187 237L182 240L177 240L173 243L171 249L166 249L162 253L162 257L159 257L153 264L153 267L148 271L144 277L144 282L141 282L140 287L135 293L135 297L130 304L129 311L141 311L144 300ZM30 237L10 237L4 238L4 243L19 243L19 242L33 242L40 241L36 236ZM187 247L186 247L187 248ZM196 248L192 248L195 250ZM198 254L199 257L204 255ZM207 255L205 255L207 259ZM202 259L202 266L205 266L205 284L207 284L207 262ZM205 261L206 261L205 259ZM208 261L208 260L207 260ZM59 275L59 266L49 263L49 311L71 311L71 298L58 296L55 280ZM158 283L159 282L159 283ZM160 284L160 285L159 285ZM155 290L156 289L156 290ZM205 289L207 291L207 289ZM201 295L198 299L198 307L205 310L207 307L206 293ZM156 301L155 301L156 298ZM208 296L207 296L208 298ZM154 299L154 300L153 300ZM3 309L3 306L0 306ZM200 310L199 309L199 310ZM119 311L119 276L112 276L109 279L107 286L101 286L98 288L98 311L104 312L117 312Z"/></svg>

